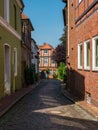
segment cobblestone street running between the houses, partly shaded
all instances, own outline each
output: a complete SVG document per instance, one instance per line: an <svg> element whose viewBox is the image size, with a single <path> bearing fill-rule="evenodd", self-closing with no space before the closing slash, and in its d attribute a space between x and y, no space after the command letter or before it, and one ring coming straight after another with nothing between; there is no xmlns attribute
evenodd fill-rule
<svg viewBox="0 0 98 130"><path fill-rule="evenodd" d="M65 98L57 80L42 80L0 119L0 130L98 130L98 121Z"/></svg>

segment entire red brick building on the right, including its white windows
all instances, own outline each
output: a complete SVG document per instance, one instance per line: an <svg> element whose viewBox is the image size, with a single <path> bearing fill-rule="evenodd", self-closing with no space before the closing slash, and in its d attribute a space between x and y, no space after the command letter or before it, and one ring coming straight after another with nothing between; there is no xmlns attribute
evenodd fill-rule
<svg viewBox="0 0 98 130"><path fill-rule="evenodd" d="M63 0L68 89L98 106L98 0Z"/></svg>

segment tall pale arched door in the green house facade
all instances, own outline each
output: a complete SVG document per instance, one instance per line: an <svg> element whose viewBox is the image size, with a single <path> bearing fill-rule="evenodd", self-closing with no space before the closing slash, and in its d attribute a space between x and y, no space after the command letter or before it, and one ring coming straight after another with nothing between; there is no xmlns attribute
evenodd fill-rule
<svg viewBox="0 0 98 130"><path fill-rule="evenodd" d="M11 92L11 83L10 83L10 47L4 45L4 93L10 94Z"/></svg>

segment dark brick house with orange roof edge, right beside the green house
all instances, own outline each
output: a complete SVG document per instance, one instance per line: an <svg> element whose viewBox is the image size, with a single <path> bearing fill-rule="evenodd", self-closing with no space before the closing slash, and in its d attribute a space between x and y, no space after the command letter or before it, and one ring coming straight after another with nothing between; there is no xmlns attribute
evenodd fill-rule
<svg viewBox="0 0 98 130"><path fill-rule="evenodd" d="M22 68L22 85L25 85L24 70L28 66L31 66L31 31L34 30L30 19L24 14L21 14L22 23L22 44L21 44L21 68Z"/></svg>

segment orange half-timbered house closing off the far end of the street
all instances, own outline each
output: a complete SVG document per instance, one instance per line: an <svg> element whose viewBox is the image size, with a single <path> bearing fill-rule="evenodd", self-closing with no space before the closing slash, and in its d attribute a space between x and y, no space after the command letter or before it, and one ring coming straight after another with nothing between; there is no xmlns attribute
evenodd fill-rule
<svg viewBox="0 0 98 130"><path fill-rule="evenodd" d="M52 53L54 48L47 43L39 46L39 71L46 71L49 69L50 75L49 77L53 77L53 73L57 71L57 64L52 59Z"/></svg>

